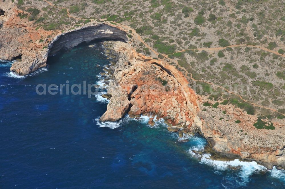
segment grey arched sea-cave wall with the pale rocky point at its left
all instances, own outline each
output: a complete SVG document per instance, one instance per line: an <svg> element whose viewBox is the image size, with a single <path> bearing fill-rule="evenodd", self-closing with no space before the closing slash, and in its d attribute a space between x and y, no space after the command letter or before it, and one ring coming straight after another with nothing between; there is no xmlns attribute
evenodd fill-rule
<svg viewBox="0 0 285 189"><path fill-rule="evenodd" d="M50 40L47 46L42 48L28 49L28 51L23 49L21 51L21 62L14 62L11 71L21 75L30 74L46 66L48 54L55 54L61 49L70 49L82 42L90 42L95 39L128 40L126 32L122 30L107 24L93 23L67 33L60 33ZM1 56L0 58L5 59L5 57Z"/></svg>

